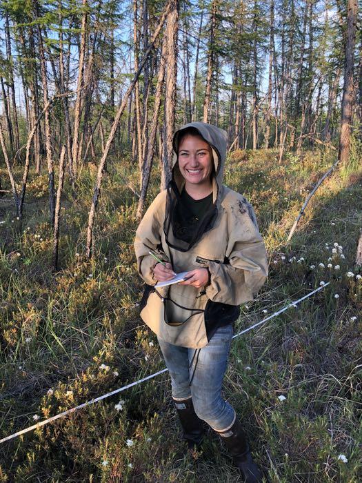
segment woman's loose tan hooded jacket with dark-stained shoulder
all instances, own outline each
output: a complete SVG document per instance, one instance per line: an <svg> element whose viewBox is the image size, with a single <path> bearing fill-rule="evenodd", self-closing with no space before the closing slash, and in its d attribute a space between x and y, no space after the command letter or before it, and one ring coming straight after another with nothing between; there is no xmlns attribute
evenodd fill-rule
<svg viewBox="0 0 362 483"><path fill-rule="evenodd" d="M210 317L210 301L239 306L254 298L268 275L268 264L263 239L257 227L254 210L239 193L223 186L226 155L224 130L203 122L192 122L174 135L174 151L178 150L181 130L197 128L212 147L216 175L212 179L213 201L217 218L212 228L190 250L181 252L168 246L163 223L167 190L161 191L145 213L134 240L139 275L146 284L141 302L141 318L161 339L190 348L208 344L210 334L205 324ZM172 164L172 178L179 188L185 181L179 171L177 154ZM175 272L208 267L210 285L194 288L174 284L154 288L152 268L157 262L149 250L171 262ZM224 263L225 260L228 263ZM210 332L210 331L209 331ZM209 338L208 338L209 335Z"/></svg>

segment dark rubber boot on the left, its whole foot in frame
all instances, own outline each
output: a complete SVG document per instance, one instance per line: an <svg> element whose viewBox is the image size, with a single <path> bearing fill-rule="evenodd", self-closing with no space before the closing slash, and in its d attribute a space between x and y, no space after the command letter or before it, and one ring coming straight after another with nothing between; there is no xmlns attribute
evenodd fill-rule
<svg viewBox="0 0 362 483"><path fill-rule="evenodd" d="M188 442L190 449L197 449L203 440L203 421L194 411L192 397L186 400L174 400L174 405L179 415L183 429L183 437Z"/></svg>

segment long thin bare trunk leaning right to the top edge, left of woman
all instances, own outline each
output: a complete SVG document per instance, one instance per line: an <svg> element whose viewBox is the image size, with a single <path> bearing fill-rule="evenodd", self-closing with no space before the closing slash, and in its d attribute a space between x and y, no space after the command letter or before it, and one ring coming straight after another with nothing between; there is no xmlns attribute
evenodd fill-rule
<svg viewBox="0 0 362 483"><path fill-rule="evenodd" d="M92 204L90 206L90 212L89 212L89 217L88 217L88 228L87 228L87 257L91 258L92 257L92 244L93 244L93 225L94 225L94 216L95 212L97 209L98 205L98 198L99 198L99 193L101 190L101 181L103 177L103 168L105 165L105 161L107 160L108 152L110 150L110 146L112 144L112 141L114 139L114 135L116 134L117 126L119 124L119 120L121 119L121 115L123 114L123 110L125 109L125 106L127 106L128 103L128 98L130 97L130 94L137 82L137 79L139 78L139 75L141 74L141 71L143 69L143 66L145 65L145 62L148 59L148 56L150 55L150 52L152 48L154 47L154 42L156 41L157 37L159 36L159 33L161 32L161 29L163 27L163 23L165 23L165 19L168 16L170 12L170 6L173 5L173 1L168 3L168 6L165 8L165 11L163 12L163 15L160 19L159 26L155 30L153 37L150 41L150 45L148 46L147 51L145 52L145 55L143 56L143 59L141 63L139 64L139 70L135 73L132 82L130 83L130 86L128 87L127 91L125 92L125 95L123 96L121 106L119 107L119 110L117 112L117 115L114 117L114 122L112 124L112 128L110 130L110 135L108 136L107 143L105 144L105 148L103 150L103 154L101 157L101 161L99 161L99 166L98 166L98 173L97 173L97 180L96 184L94 186L94 194L92 198Z"/></svg>

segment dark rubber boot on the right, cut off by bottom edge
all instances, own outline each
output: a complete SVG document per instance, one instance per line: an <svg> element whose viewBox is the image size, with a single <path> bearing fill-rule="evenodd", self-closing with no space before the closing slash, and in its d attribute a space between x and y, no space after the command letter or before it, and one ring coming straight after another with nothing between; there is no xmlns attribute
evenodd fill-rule
<svg viewBox="0 0 362 483"><path fill-rule="evenodd" d="M217 432L230 451L235 466L241 471L244 482L261 483L263 476L257 464L252 460L252 453L250 453L241 423L236 419L228 431Z"/></svg>

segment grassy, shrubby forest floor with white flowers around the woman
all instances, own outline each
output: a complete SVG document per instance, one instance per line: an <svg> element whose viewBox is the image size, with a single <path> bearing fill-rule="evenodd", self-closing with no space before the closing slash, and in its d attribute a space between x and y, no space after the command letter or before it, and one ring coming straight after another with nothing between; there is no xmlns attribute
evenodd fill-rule
<svg viewBox="0 0 362 483"><path fill-rule="evenodd" d="M308 191L336 154L286 153L278 164L273 150L235 152L225 172L225 184L253 204L270 262L268 282L241 306L235 333L330 282L232 342L224 395L272 483L362 480L359 155L319 188L289 243ZM83 173L75 201L66 184L56 274L47 175L32 173L23 223L10 195L0 198L0 438L165 367L137 306L137 198L128 187L137 186L137 169L124 159L108 170L91 262L83 254L94 175ZM148 201L158 186L154 179ZM0 445L0 482L237 482L238 475L211 430L201 451L185 451L167 372Z"/></svg>

